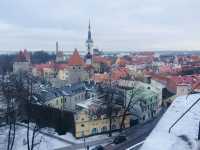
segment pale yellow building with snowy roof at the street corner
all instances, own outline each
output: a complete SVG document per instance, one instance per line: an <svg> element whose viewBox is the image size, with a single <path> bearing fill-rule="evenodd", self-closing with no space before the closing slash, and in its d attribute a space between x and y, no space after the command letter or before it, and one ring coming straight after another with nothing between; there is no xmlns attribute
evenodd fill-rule
<svg viewBox="0 0 200 150"><path fill-rule="evenodd" d="M110 130L110 120L106 115L105 107L99 105L98 100L87 100L77 104L77 112L75 113L75 137L81 138L95 134L105 133ZM122 121L122 108L116 106L118 111L113 111L112 130L120 129ZM101 110L101 111L100 111ZM116 110L116 109L115 109ZM99 113L100 112L100 113ZM130 116L126 115L124 127L130 127Z"/></svg>

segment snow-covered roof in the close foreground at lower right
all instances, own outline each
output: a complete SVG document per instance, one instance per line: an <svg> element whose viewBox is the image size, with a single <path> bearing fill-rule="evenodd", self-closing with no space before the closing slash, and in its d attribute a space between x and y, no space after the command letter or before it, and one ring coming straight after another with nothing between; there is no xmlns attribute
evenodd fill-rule
<svg viewBox="0 0 200 150"><path fill-rule="evenodd" d="M198 99L200 94L178 97L163 115L140 150L199 150L200 121L198 102L168 133L170 126Z"/></svg>

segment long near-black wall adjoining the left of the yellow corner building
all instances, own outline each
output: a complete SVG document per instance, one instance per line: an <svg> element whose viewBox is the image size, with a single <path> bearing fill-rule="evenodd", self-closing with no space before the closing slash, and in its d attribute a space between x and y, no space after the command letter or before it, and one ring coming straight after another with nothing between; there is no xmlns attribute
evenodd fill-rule
<svg viewBox="0 0 200 150"><path fill-rule="evenodd" d="M26 106L25 108L29 108L31 121L37 122L41 128L52 127L59 134L75 132L74 116L72 112L61 111L59 109L37 104L29 104L29 106Z"/></svg>

